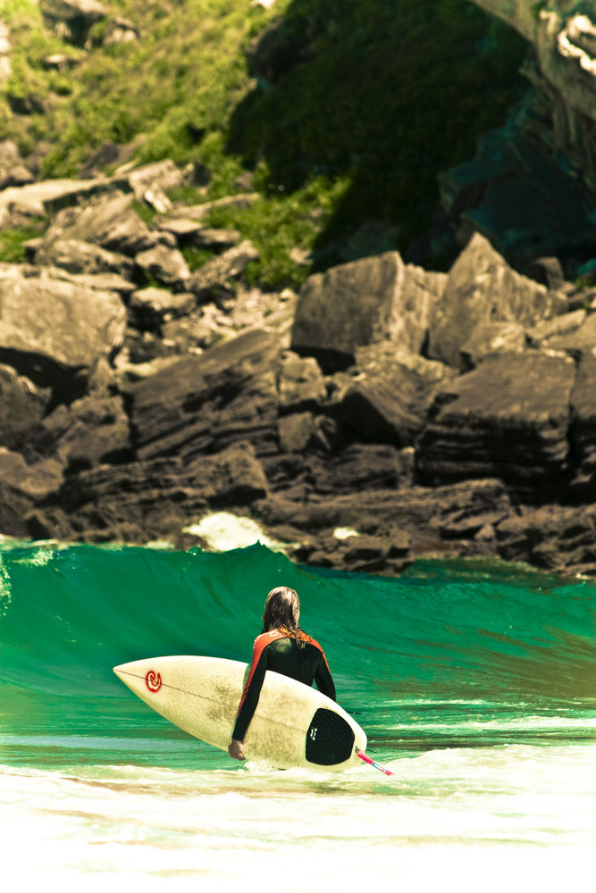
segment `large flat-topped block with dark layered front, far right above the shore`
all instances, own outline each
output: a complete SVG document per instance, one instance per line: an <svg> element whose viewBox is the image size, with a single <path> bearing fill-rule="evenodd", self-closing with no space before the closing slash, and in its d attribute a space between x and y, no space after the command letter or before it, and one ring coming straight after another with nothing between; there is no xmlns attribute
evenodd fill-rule
<svg viewBox="0 0 596 893"><path fill-rule="evenodd" d="M575 364L535 352L487 357L441 388L416 447L424 481L499 477L560 492Z"/></svg>

